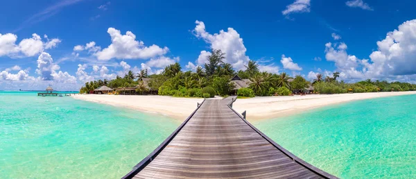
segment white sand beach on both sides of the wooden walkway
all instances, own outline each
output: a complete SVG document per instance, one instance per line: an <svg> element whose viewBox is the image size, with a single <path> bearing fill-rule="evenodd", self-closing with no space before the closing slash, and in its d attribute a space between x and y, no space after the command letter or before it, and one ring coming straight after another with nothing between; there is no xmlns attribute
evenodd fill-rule
<svg viewBox="0 0 416 179"><path fill-rule="evenodd" d="M233 108L237 112L247 110L247 119L272 119L319 108L325 105L345 103L361 99L416 94L416 92L376 92L360 94L311 94L306 96L266 96L252 99L238 99ZM82 94L74 99L132 108L142 112L165 114L184 121L196 109L196 103L203 99L175 98L169 96L124 96Z"/></svg>

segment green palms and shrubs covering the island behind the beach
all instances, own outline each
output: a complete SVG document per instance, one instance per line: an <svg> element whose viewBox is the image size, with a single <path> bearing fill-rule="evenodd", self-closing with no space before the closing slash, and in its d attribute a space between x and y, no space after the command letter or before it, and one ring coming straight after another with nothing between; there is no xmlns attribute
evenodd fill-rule
<svg viewBox="0 0 416 179"><path fill-rule="evenodd" d="M94 80L81 87L81 93L91 93L97 87L107 85L111 88L135 87L137 94L146 94L149 90L157 91L159 95L180 97L214 97L227 96L287 96L292 92L302 92L311 86L313 92L320 94L340 94L347 92L390 92L416 90L416 85L410 83L388 82L386 80L363 80L357 83L345 83L338 80L340 73L334 72L331 76L317 74L311 82L303 76L291 77L289 74L272 74L261 72L259 64L250 60L244 70L234 71L234 68L225 61L225 53L219 49L211 49L207 56L207 63L203 67L196 67L195 71L182 71L179 63L168 65L160 74L148 75L146 69L135 74L128 71L123 77L116 76L112 80ZM234 91L233 76L249 79L248 88ZM150 78L147 86L144 78Z"/></svg>

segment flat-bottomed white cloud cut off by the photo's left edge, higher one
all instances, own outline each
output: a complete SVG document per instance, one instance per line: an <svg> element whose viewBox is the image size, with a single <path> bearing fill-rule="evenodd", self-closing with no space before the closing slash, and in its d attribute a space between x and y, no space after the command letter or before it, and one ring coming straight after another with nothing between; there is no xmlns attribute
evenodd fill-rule
<svg viewBox="0 0 416 179"><path fill-rule="evenodd" d="M47 39L47 35L44 37ZM41 53L44 49L52 49L61 42L58 38L47 40L47 42L43 42L39 35L33 33L31 38L21 40L19 44L16 44L17 35L0 34L0 56L31 57Z"/></svg>

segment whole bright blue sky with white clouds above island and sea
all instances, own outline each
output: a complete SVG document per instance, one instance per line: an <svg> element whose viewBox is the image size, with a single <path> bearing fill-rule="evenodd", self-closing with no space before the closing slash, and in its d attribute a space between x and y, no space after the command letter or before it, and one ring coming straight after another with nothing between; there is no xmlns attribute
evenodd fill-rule
<svg viewBox="0 0 416 179"><path fill-rule="evenodd" d="M236 69L256 60L263 71L309 80L340 71L347 81L415 82L415 5L374 0L5 1L0 7L0 89L49 84L78 89L87 80L128 70L159 73L173 62L192 70L203 64L210 48L225 51L226 62Z"/></svg>

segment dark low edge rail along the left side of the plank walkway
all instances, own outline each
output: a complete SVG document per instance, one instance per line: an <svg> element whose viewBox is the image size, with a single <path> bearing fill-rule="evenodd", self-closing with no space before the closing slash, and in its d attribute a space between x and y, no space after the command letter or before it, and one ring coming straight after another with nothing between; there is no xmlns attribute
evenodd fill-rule
<svg viewBox="0 0 416 179"><path fill-rule="evenodd" d="M153 159L155 159L155 157L157 157L157 155L159 155L159 153L161 153L163 151L163 149L168 146L168 144L172 141L172 139L177 135L177 133L180 132L180 130L188 123L188 121L193 117L193 114L196 113L196 111L198 111L198 109L201 107L201 105L205 102L202 101L202 103L198 103L198 107L196 108L196 110L194 110L191 115L189 115L189 117L179 126L176 128L175 131L173 131L173 133L171 135L169 135L168 138L166 138L164 140L164 142L162 142L162 144L160 144L155 151L153 151L152 153L150 153L147 157L145 157L143 160L141 160L141 162L139 162L138 164L135 165L135 167L133 167L132 171L130 171L129 173L127 173L125 176L123 176L122 179L127 179L127 178L133 178L135 175L137 175L137 173L139 173L141 170L144 169L144 167L146 167L150 162L152 162Z"/></svg>

